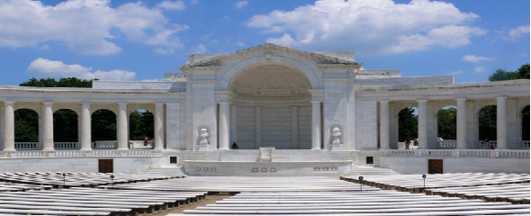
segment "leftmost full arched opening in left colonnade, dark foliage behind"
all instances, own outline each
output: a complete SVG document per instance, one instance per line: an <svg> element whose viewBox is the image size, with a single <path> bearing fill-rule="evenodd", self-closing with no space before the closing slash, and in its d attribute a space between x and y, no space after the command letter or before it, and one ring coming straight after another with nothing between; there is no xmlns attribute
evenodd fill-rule
<svg viewBox="0 0 531 216"><path fill-rule="evenodd" d="M39 143L39 114L31 109L14 112L14 148L37 150Z"/></svg>

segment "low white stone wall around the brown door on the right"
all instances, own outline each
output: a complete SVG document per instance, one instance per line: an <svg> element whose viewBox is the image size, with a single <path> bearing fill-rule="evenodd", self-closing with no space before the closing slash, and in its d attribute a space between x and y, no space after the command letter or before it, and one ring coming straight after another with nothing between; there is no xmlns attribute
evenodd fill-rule
<svg viewBox="0 0 531 216"><path fill-rule="evenodd" d="M429 159L443 159L445 173L531 173L529 158L381 157L380 163L401 174L427 174Z"/></svg>

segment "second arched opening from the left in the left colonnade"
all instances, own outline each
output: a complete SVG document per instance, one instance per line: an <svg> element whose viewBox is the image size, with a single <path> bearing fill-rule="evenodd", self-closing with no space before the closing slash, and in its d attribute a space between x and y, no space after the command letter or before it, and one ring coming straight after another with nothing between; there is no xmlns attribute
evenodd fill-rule
<svg viewBox="0 0 531 216"><path fill-rule="evenodd" d="M58 110L53 113L54 148L79 148L79 121L77 113L72 110Z"/></svg>

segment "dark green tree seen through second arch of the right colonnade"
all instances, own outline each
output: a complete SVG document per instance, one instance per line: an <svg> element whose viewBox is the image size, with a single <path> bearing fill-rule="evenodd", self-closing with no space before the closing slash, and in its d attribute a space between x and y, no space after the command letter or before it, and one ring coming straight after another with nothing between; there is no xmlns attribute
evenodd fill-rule
<svg viewBox="0 0 531 216"><path fill-rule="evenodd" d="M437 118L439 138L457 139L457 109L443 109L437 113Z"/></svg>

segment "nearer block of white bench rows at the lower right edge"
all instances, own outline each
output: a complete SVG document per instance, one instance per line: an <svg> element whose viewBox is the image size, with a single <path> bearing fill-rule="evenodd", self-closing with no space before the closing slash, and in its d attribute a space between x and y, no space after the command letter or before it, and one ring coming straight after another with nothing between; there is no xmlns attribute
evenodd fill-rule
<svg viewBox="0 0 531 216"><path fill-rule="evenodd" d="M463 199L482 199L488 202L530 204L530 190L531 184L505 184L429 189L425 193Z"/></svg>

